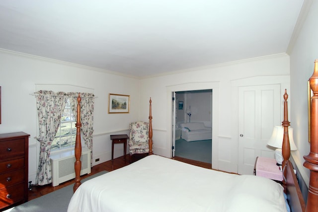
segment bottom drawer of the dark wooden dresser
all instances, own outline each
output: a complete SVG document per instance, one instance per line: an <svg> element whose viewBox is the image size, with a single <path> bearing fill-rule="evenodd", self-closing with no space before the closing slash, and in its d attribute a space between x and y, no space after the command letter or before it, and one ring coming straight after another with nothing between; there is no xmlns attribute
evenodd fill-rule
<svg viewBox="0 0 318 212"><path fill-rule="evenodd" d="M24 200L23 183L0 190L0 209Z"/></svg>

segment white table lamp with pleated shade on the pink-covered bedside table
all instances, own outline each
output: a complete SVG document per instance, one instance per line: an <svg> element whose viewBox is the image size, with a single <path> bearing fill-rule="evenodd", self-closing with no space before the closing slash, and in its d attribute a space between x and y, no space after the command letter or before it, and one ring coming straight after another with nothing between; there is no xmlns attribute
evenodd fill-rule
<svg viewBox="0 0 318 212"><path fill-rule="evenodd" d="M289 136L290 150L297 150L297 147L293 139L293 128L288 128L288 136ZM276 147L275 159L276 159L277 165L282 165L282 162L284 160L283 153L282 153L283 137L284 137L284 128L281 126L275 126L273 129L273 134L270 137L269 141L267 142L267 145Z"/></svg>

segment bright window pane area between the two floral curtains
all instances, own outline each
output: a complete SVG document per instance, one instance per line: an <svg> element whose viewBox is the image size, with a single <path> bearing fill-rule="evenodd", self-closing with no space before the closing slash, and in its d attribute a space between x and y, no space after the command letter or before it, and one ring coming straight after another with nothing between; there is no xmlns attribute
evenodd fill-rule
<svg viewBox="0 0 318 212"><path fill-rule="evenodd" d="M69 148L75 145L76 120L71 108L70 99L67 100L61 118L61 124L51 145L51 150Z"/></svg>

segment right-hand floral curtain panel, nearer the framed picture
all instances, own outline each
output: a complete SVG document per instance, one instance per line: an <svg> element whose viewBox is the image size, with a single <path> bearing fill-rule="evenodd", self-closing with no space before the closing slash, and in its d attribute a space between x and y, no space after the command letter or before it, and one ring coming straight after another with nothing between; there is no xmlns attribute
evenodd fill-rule
<svg viewBox="0 0 318 212"><path fill-rule="evenodd" d="M78 96L79 93L70 92L68 93L71 108L77 120L77 109L78 109ZM94 121L94 94L92 93L80 93L80 132L87 148L90 149L90 165L92 165L93 155L93 121Z"/></svg>

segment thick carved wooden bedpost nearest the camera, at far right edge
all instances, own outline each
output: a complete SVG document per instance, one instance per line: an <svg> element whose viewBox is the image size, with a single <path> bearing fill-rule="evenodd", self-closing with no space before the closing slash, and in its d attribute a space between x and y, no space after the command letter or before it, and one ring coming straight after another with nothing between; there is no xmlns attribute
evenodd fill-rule
<svg viewBox="0 0 318 212"><path fill-rule="evenodd" d="M310 153L304 156L304 166L310 170L306 212L318 211L318 59L315 60L313 75L309 78L313 90L311 103Z"/></svg>

